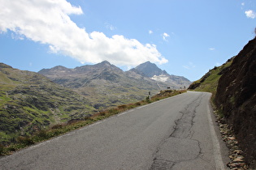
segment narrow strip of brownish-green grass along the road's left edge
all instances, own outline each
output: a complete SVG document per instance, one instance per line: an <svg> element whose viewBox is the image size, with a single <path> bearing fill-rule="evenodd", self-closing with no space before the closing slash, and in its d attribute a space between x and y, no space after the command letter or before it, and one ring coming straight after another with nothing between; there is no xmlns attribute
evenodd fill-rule
<svg viewBox="0 0 256 170"><path fill-rule="evenodd" d="M31 146L37 142L46 141L50 138L54 138L61 134L66 134L67 132L70 132L72 130L80 129L85 125L91 125L96 121L101 121L102 119L106 119L107 117L111 117L115 114L122 113L128 109L137 108L138 106L150 104L154 101L163 100L167 97L176 96L184 92L186 91L160 91L160 93L156 96L153 96L151 98L150 96L147 96L145 100L141 100L133 104L122 104L116 108L109 108L96 114L93 114L92 117L85 117L81 120L57 124L46 130L39 130L37 131L37 133L33 135L19 136L18 138L14 139L15 142L13 142L11 145L0 145L0 155L11 155L14 151L18 151L24 147Z"/></svg>

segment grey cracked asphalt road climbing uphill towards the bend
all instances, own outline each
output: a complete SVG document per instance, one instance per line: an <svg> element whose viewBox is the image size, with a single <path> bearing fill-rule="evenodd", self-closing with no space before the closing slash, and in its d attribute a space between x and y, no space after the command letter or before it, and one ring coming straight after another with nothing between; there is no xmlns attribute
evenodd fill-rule
<svg viewBox="0 0 256 170"><path fill-rule="evenodd" d="M225 169L210 93L134 108L0 159L0 169Z"/></svg>

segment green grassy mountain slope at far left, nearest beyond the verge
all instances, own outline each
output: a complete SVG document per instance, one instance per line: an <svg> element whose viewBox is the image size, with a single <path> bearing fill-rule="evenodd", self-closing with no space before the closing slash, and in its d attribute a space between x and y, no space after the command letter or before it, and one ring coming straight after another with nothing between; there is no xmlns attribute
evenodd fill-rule
<svg viewBox="0 0 256 170"><path fill-rule="evenodd" d="M59 69L63 69L59 67ZM41 74L0 63L0 143L80 117L95 108L75 91Z"/></svg>

